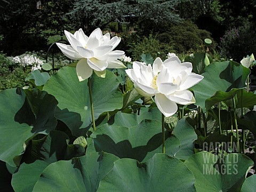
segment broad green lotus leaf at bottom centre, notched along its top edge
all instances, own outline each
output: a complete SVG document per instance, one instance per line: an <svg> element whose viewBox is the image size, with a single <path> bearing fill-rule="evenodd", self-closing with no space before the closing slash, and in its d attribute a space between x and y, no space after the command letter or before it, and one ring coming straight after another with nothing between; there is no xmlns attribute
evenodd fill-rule
<svg viewBox="0 0 256 192"><path fill-rule="evenodd" d="M119 159L98 191L196 191L194 175L179 159L155 154L145 163Z"/></svg>

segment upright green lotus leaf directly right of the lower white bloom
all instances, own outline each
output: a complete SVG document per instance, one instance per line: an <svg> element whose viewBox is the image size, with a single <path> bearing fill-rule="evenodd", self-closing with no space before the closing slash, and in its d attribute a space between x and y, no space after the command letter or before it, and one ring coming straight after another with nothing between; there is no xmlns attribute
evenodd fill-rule
<svg viewBox="0 0 256 192"><path fill-rule="evenodd" d="M215 102L228 100L236 93L236 89L245 87L250 72L250 69L234 61L211 63L205 68L202 81L191 87L195 93L195 105L205 110L205 108L209 109ZM217 93L217 91L219 92Z"/></svg>

